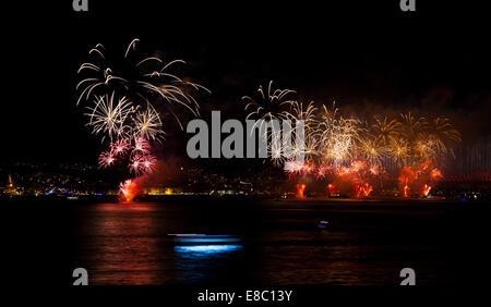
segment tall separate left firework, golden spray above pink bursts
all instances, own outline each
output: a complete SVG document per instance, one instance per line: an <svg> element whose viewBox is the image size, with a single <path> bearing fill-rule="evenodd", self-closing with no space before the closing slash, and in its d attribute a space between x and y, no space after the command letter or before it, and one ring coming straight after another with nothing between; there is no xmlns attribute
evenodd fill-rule
<svg viewBox="0 0 491 307"><path fill-rule="evenodd" d="M191 94L205 87L170 72L182 60L165 62L159 57L141 57L136 52L137 38L121 52L121 58L108 57L106 48L97 44L88 52L89 62L83 63L77 74L76 105L88 110L87 126L101 136L107 150L99 156L99 167L128 163L134 175L155 170L157 158L153 145L164 139L163 116L176 119L177 107L199 114L199 103ZM128 191L131 182L121 184ZM123 193L125 195L125 193ZM128 198L128 197L125 197ZM132 197L131 197L132 198Z"/></svg>

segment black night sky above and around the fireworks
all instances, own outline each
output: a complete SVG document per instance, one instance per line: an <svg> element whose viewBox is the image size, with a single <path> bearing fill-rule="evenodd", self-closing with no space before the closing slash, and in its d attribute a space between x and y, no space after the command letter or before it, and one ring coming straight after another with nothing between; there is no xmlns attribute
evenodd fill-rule
<svg viewBox="0 0 491 307"><path fill-rule="evenodd" d="M144 50L185 60L180 72L213 91L200 96L204 118L211 110L243 118L241 97L274 79L303 101L360 110L435 106L465 118L465 135L488 133L489 25L486 11L467 1L417 1L416 13L400 12L397 0L89 0L88 13L73 12L71 1L44 2L3 9L15 16L2 22L8 162L96 161L100 140L75 107L76 71L96 44L123 52L135 37ZM185 134L170 130L169 138L169 147L185 148Z"/></svg>

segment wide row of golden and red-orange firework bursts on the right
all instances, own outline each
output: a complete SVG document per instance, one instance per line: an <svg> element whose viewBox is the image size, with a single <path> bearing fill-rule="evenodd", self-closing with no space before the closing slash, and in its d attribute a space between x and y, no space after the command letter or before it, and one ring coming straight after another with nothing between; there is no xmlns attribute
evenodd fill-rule
<svg viewBox="0 0 491 307"><path fill-rule="evenodd" d="M271 86L272 82L267 95L260 87L263 100L244 98L248 102L244 109L250 111L247 119L303 121L304 146L292 146L294 150L302 150L306 161L289 159L271 146L268 154L274 164L286 161L284 170L290 181L306 177L323 181L330 195L350 191L357 197L368 197L383 189L384 182L393 180L405 197L411 192L428 196L429 184L443 179L441 168L448 156L454 156L452 145L460 142L460 133L448 118L416 118L410 112L393 118L343 115L335 103L316 108L313 102L304 105L291 97L284 99L295 90L277 89L270 96ZM387 162L396 165L395 171L386 170Z"/></svg>

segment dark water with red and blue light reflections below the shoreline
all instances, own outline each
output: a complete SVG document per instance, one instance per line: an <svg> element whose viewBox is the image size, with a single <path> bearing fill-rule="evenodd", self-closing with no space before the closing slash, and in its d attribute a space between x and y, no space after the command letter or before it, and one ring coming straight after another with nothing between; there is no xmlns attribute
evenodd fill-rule
<svg viewBox="0 0 491 307"><path fill-rule="evenodd" d="M83 267L91 284L397 285L409 267L418 284L453 285L468 282L468 270L480 266L489 234L489 223L472 229L487 205L191 199L9 206L10 231L26 221L36 229L22 232L22 243L14 240L23 262L51 266L56 282L69 282L71 270ZM27 210L39 219L26 220ZM327 229L316 226L320 220ZM241 241L176 245L169 233Z"/></svg>

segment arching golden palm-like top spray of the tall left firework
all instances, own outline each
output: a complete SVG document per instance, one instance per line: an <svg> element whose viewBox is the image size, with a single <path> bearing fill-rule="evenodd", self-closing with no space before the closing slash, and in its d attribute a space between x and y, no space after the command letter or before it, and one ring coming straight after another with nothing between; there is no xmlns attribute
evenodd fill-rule
<svg viewBox="0 0 491 307"><path fill-rule="evenodd" d="M173 65L185 64L183 60L165 62L155 56L141 57L136 52L139 42L140 39L133 39L125 48L124 57L116 59L109 59L106 48L100 44L91 49L88 53L92 61L83 63L77 71L82 81L76 85L80 93L76 103L89 101L99 91L117 90L141 106L147 101L167 102L166 107L178 121L172 105L180 105L197 115L199 103L190 93L209 90L170 72ZM115 66L112 63L119 64Z"/></svg>

